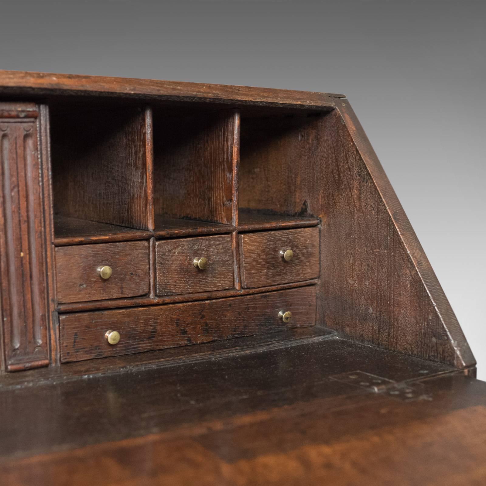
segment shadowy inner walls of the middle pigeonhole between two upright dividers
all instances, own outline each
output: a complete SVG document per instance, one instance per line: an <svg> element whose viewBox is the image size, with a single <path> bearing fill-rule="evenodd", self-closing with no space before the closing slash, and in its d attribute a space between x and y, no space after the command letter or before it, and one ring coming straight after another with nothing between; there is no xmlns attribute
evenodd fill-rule
<svg viewBox="0 0 486 486"><path fill-rule="evenodd" d="M154 113L154 210L231 225L238 112L167 117Z"/></svg>

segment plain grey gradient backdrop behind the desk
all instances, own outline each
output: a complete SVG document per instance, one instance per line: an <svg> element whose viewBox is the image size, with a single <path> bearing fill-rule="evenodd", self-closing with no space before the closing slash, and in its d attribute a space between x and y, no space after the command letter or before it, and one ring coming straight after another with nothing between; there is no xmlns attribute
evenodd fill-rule
<svg viewBox="0 0 486 486"><path fill-rule="evenodd" d="M486 2L1 2L0 68L345 93L486 379Z"/></svg>

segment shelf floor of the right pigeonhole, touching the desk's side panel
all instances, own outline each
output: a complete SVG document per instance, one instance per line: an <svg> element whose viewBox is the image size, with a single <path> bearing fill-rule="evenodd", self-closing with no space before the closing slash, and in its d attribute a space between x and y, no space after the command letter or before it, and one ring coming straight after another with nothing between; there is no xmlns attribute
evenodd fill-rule
<svg viewBox="0 0 486 486"><path fill-rule="evenodd" d="M240 209L238 212L238 231L304 228L308 226L317 226L319 223L320 220L318 218L264 214L251 209Z"/></svg>

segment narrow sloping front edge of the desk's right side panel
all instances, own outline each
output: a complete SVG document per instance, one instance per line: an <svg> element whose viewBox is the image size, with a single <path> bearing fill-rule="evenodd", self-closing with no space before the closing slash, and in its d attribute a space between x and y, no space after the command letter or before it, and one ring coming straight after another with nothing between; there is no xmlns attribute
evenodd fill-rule
<svg viewBox="0 0 486 486"><path fill-rule="evenodd" d="M474 366L476 360L474 359L464 332L452 311L451 304L442 290L422 245L419 243L417 235L399 202L397 194L364 133L361 123L358 121L347 99L336 99L336 109L346 124L356 149L362 157L376 189L387 208L393 225L397 229L399 238L420 276L435 312L444 326L450 346L454 350L455 366L461 369Z"/></svg>

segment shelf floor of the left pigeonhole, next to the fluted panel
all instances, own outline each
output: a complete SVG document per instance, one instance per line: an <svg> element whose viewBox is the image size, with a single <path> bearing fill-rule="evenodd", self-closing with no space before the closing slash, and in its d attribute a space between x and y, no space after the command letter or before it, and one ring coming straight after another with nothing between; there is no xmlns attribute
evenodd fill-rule
<svg viewBox="0 0 486 486"><path fill-rule="evenodd" d="M108 225L66 216L54 216L53 243L56 246L146 240L151 236L151 231L125 228L124 226Z"/></svg>

